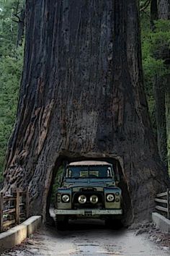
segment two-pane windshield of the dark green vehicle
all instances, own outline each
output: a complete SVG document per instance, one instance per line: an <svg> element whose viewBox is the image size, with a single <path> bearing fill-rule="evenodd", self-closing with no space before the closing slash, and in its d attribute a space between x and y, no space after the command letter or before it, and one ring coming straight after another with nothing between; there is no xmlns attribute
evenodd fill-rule
<svg viewBox="0 0 170 256"><path fill-rule="evenodd" d="M66 178L112 178L111 166L68 166Z"/></svg>

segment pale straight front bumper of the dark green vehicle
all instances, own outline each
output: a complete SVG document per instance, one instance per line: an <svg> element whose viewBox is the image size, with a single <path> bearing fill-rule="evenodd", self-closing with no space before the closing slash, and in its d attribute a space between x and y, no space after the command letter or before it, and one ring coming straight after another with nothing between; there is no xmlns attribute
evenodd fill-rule
<svg viewBox="0 0 170 256"><path fill-rule="evenodd" d="M68 216L110 216L110 215L122 215L122 209L115 210L98 210L98 209L79 209L79 210L57 210L56 215L68 215Z"/></svg>

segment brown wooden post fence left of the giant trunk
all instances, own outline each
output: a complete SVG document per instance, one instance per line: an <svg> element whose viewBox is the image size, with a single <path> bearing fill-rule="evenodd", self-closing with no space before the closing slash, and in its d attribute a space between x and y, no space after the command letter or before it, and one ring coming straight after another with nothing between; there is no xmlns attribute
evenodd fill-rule
<svg viewBox="0 0 170 256"><path fill-rule="evenodd" d="M28 216L28 192L19 189L11 195L0 192L0 232L22 223Z"/></svg>

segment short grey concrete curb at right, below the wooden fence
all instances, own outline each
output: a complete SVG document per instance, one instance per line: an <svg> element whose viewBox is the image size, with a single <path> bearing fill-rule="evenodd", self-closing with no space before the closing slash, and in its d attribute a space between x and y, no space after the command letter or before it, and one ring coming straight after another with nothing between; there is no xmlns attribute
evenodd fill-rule
<svg viewBox="0 0 170 256"><path fill-rule="evenodd" d="M164 233L170 233L170 220L159 213L152 213L152 220Z"/></svg>

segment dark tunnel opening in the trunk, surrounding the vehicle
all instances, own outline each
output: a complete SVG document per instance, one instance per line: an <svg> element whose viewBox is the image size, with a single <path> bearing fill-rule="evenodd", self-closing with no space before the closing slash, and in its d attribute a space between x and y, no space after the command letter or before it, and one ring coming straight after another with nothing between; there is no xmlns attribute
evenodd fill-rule
<svg viewBox="0 0 170 256"><path fill-rule="evenodd" d="M127 179L125 178L125 172L123 171L123 166L122 163L120 163L119 158L71 158L66 156L60 156L55 163L55 167L53 168L53 176L50 182L50 189L47 198L46 223L55 226L55 213L53 209L55 208L56 192L59 186L59 176L63 175L63 172L66 169L68 163L79 161L104 161L112 164L115 173L116 186L122 189L122 224L124 226L128 226L129 223L132 223L133 214L131 208L130 192L128 191Z"/></svg>

